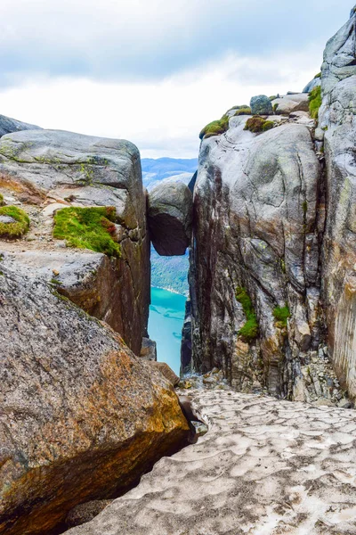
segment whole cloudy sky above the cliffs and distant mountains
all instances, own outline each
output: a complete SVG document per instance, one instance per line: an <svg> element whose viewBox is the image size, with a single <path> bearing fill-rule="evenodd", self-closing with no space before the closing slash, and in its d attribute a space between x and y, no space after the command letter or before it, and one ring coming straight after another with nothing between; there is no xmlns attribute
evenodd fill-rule
<svg viewBox="0 0 356 535"><path fill-rule="evenodd" d="M352 0L1 0L0 113L193 158L252 95L299 91Z"/></svg>

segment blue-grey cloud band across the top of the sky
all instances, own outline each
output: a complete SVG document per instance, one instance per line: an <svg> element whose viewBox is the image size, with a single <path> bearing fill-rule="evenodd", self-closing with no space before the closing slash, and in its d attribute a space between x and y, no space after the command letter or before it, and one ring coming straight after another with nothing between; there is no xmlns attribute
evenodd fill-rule
<svg viewBox="0 0 356 535"><path fill-rule="evenodd" d="M315 43L321 49L350 11L348 0L3 2L2 86L36 74L158 79L228 52L268 57Z"/></svg>

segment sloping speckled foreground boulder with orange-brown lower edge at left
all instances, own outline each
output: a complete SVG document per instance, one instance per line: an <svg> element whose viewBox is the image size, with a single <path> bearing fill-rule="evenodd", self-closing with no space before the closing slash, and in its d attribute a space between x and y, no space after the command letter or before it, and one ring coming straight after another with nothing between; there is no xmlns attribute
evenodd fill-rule
<svg viewBox="0 0 356 535"><path fill-rule="evenodd" d="M188 424L171 385L117 333L41 273L7 258L0 268L0 532L49 535L181 446Z"/></svg>

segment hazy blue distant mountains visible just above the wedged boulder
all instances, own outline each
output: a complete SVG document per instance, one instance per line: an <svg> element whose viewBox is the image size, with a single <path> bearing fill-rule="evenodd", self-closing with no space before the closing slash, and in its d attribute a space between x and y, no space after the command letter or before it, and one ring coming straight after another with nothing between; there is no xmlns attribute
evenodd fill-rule
<svg viewBox="0 0 356 535"><path fill-rule="evenodd" d="M142 158L142 180L148 190L163 180L189 184L198 168L198 158Z"/></svg>

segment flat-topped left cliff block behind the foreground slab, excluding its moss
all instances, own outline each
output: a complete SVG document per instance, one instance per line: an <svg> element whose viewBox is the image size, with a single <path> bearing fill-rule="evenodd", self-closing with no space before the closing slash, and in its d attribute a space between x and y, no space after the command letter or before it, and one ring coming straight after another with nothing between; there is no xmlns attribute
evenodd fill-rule
<svg viewBox="0 0 356 535"><path fill-rule="evenodd" d="M59 291L107 321L139 354L149 314L150 240L137 148L55 130L9 134L0 139L0 193L31 219L28 235L0 249L20 253L49 280L58 271ZM71 206L115 208L120 258L90 253L86 263L81 249L64 253L64 243L53 240L53 213Z"/></svg>

